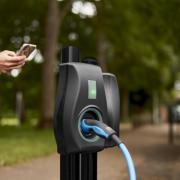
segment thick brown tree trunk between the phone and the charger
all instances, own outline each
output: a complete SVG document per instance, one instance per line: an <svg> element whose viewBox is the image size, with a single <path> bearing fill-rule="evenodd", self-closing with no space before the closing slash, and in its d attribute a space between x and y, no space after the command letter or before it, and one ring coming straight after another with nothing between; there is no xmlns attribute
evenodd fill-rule
<svg viewBox="0 0 180 180"><path fill-rule="evenodd" d="M40 127L52 126L55 103L55 73L57 41L59 36L59 9L57 0L49 0L45 29L44 63L42 67L42 114Z"/></svg>

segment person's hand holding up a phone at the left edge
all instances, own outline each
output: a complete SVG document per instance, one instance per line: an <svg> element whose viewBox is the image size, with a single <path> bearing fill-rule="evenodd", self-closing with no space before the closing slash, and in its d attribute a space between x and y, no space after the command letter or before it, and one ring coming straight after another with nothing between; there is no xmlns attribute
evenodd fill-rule
<svg viewBox="0 0 180 180"><path fill-rule="evenodd" d="M12 69L19 69L25 64L26 56L17 56L13 51L0 52L0 72L8 72Z"/></svg>

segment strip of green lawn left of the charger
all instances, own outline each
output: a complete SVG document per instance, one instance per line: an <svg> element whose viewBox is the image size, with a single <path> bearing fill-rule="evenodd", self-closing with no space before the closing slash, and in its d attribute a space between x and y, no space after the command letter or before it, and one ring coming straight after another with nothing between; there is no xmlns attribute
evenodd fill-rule
<svg viewBox="0 0 180 180"><path fill-rule="evenodd" d="M0 126L0 166L56 152L53 130Z"/></svg>

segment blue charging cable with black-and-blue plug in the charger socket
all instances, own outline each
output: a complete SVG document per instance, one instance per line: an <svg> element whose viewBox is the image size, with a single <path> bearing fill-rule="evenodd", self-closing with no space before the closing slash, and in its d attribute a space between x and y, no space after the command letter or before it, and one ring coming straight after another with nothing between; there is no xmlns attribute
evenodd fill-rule
<svg viewBox="0 0 180 180"><path fill-rule="evenodd" d="M121 142L119 137L116 135L116 132L111 127L100 121L83 119L81 122L81 130L85 134L94 133L104 139L112 139L122 151L123 156L126 159L130 180L136 180L136 171L131 155L125 144Z"/></svg>

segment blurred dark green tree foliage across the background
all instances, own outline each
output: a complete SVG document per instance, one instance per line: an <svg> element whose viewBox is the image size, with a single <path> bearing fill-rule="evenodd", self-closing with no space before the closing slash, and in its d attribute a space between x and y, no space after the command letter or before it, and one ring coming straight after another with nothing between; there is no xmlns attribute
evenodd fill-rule
<svg viewBox="0 0 180 180"><path fill-rule="evenodd" d="M30 38L43 52L47 2L1 0L0 49L16 50ZM60 29L59 47L78 46L82 57L97 57L97 38L102 33L108 68L117 75L122 89L168 92L180 69L179 1L90 2L96 5L97 14L89 18L68 13ZM28 110L39 111L41 64L27 63L18 78L0 76L0 81L0 114L14 110L17 90L23 91Z"/></svg>

